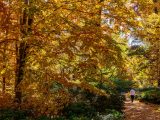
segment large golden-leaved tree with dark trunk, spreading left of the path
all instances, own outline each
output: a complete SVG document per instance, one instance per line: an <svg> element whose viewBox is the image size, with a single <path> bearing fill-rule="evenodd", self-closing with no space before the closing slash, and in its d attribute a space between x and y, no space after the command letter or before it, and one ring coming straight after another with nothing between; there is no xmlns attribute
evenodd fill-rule
<svg viewBox="0 0 160 120"><path fill-rule="evenodd" d="M126 6L128 1L4 1L10 11L10 28L7 40L1 41L8 42L3 53L14 64L9 71L15 80L15 102L35 100L30 103L44 103L46 109L53 106L52 113L58 114L55 108L62 109L69 102L69 88L106 95L92 83L109 83L112 76L128 77L122 54L125 38L120 32L140 28L137 13ZM4 10L2 13L4 16ZM7 20L0 20L8 25Z"/></svg>

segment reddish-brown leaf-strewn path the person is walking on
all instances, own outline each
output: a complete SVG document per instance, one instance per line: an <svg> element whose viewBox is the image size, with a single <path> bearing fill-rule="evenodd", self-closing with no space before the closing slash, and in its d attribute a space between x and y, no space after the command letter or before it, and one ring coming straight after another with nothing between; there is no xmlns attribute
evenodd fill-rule
<svg viewBox="0 0 160 120"><path fill-rule="evenodd" d="M125 120L160 120L160 105L134 101L125 101Z"/></svg>

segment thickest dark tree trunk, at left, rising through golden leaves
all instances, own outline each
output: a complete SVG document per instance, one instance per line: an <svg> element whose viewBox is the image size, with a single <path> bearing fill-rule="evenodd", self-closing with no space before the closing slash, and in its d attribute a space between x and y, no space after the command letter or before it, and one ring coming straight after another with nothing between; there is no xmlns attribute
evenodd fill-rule
<svg viewBox="0 0 160 120"><path fill-rule="evenodd" d="M25 4L29 5L29 0L24 0ZM30 11L25 9L23 11L22 17L20 18L20 30L22 34L22 40L20 41L19 47L17 46L17 68L16 68L16 80L15 80L15 102L21 103L22 90L21 81L24 79L24 69L27 58L27 50L29 45L27 43L26 37L31 33L31 25L33 22L33 17L29 15Z"/></svg>

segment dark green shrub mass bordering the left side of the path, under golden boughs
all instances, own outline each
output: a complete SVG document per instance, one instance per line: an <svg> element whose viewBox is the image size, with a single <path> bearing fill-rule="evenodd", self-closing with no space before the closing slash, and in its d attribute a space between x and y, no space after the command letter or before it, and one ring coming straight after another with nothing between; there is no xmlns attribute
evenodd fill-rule
<svg viewBox="0 0 160 120"><path fill-rule="evenodd" d="M109 96L96 95L87 90L70 90L75 95L81 95L82 98L63 109L62 113L66 120L91 120L97 113L108 114L106 113L106 109L122 113L125 96L121 95L113 86L97 84L96 87L106 91ZM118 116L118 113L114 115Z"/></svg>

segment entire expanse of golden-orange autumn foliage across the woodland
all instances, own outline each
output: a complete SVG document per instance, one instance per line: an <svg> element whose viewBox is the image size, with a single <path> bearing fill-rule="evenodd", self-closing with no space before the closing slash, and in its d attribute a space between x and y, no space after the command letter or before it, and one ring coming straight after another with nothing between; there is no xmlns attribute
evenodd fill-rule
<svg viewBox="0 0 160 120"><path fill-rule="evenodd" d="M111 78L134 78L125 53L128 34L151 44L147 60L156 63L147 70L159 80L154 66L159 63L159 16L152 13L154 4L150 0L1 0L0 108L32 109L35 116L55 117L80 100L70 89L108 97L97 84L114 89Z"/></svg>

